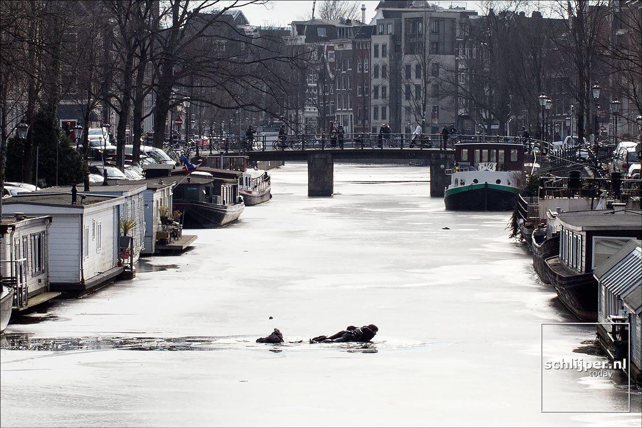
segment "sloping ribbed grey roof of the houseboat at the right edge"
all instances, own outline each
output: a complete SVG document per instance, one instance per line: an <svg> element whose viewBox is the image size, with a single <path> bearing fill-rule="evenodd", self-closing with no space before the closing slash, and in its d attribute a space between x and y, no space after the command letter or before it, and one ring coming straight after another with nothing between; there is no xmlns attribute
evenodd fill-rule
<svg viewBox="0 0 642 428"><path fill-rule="evenodd" d="M628 296L642 286L641 242L639 239L629 241L593 271L594 277L616 296Z"/></svg>

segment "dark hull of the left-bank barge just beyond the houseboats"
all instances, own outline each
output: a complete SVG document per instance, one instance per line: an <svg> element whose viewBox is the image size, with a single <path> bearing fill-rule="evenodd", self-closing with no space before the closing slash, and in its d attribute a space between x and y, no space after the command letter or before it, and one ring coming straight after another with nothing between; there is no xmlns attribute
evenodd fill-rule
<svg viewBox="0 0 642 428"><path fill-rule="evenodd" d="M179 200L174 201L174 209L183 213L183 227L207 229L234 223L241 216L243 209L245 209L245 204L216 205Z"/></svg>

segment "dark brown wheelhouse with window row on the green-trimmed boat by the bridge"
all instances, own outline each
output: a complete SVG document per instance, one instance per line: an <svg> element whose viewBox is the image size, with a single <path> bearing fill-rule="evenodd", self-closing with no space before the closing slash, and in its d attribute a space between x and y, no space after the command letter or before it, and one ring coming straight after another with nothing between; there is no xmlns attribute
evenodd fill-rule
<svg viewBox="0 0 642 428"><path fill-rule="evenodd" d="M522 171L524 146L508 142L460 142L455 144L459 171Z"/></svg>

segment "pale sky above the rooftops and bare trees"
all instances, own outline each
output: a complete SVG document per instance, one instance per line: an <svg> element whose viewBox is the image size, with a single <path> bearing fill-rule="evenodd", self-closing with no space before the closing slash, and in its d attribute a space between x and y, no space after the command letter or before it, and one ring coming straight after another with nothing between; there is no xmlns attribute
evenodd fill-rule
<svg viewBox="0 0 642 428"><path fill-rule="evenodd" d="M252 25L272 25L286 27L290 22L296 21L312 12L313 1L298 1L298 0L273 0L268 4L250 4L241 8L248 21ZM320 3L320 2L317 2ZM365 4L366 23L374 17L374 8L379 4L379 0L365 0L360 1L360 4ZM480 1L440 1L429 2L438 3L442 7L448 7L449 4L455 5L466 4L466 7L472 10L480 10Z"/></svg>

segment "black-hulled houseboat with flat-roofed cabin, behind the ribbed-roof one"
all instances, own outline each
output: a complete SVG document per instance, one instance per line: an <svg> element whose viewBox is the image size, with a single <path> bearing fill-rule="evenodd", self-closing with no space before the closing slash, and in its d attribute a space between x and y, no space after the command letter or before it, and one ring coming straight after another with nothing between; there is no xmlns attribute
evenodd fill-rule
<svg viewBox="0 0 642 428"><path fill-rule="evenodd" d="M560 301L582 321L597 320L593 270L631 239L642 238L642 212L629 209L569 211L559 219L559 253L545 260Z"/></svg>

